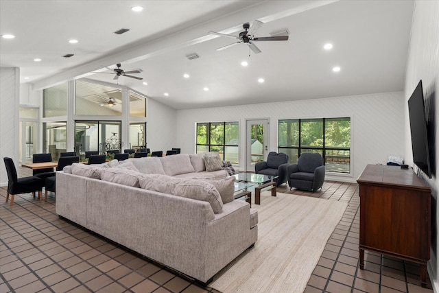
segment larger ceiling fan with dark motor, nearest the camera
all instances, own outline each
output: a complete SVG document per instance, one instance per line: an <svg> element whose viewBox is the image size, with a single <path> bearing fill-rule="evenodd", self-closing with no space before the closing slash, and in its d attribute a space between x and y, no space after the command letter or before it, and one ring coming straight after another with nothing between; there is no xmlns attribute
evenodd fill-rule
<svg viewBox="0 0 439 293"><path fill-rule="evenodd" d="M252 26L250 27L250 23L244 23L242 27L244 28L244 32L240 32L239 36L233 36L231 34L221 34L219 32L209 32L209 34L216 34L217 36L226 36L228 38L235 38L238 39L236 43L232 43L230 45L226 45L224 47L220 47L217 49L217 51L221 51L224 49L227 49L229 47L235 46L239 43L245 43L248 45L250 49L254 52L254 54L261 53L261 50L257 47L257 45L254 45L254 41L265 41L265 40L288 40L288 36L263 36L263 37L257 37L254 36L256 31L263 25L263 22L261 21L254 21Z"/></svg>

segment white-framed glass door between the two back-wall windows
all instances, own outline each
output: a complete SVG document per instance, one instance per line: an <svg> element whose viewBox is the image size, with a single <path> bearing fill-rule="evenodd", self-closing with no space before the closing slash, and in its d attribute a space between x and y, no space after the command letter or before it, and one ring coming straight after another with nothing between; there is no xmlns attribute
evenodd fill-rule
<svg viewBox="0 0 439 293"><path fill-rule="evenodd" d="M270 150L268 119L247 120L246 171L254 172L254 164L264 161Z"/></svg>

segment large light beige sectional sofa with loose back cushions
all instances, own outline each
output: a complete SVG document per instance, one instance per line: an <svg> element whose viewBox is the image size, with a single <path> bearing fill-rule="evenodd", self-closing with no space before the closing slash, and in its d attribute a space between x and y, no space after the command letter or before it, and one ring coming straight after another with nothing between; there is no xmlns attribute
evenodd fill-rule
<svg viewBox="0 0 439 293"><path fill-rule="evenodd" d="M206 171L200 159L178 154L106 166L72 165L56 174L56 212L209 283L257 241L257 211L244 200L233 200L233 190L230 197L233 178L224 169Z"/></svg>

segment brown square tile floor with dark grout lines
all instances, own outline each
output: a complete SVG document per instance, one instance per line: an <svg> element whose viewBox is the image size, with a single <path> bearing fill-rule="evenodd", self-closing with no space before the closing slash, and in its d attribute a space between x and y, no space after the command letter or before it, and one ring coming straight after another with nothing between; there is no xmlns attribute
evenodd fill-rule
<svg viewBox="0 0 439 293"><path fill-rule="evenodd" d="M19 174L27 175L27 170ZM327 181L322 191L278 192L340 200L348 207L331 235L305 292L433 292L419 286L416 263L366 252L358 267L358 185ZM217 292L202 288L135 253L60 220L55 194L5 204L0 187L0 292Z"/></svg>

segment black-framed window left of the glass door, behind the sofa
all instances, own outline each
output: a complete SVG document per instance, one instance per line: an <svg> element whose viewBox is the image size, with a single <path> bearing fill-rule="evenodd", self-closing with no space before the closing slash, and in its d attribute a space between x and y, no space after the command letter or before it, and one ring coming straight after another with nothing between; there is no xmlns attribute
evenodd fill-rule
<svg viewBox="0 0 439 293"><path fill-rule="evenodd" d="M197 124L197 153L219 152L222 159L238 163L238 122L206 122Z"/></svg>

